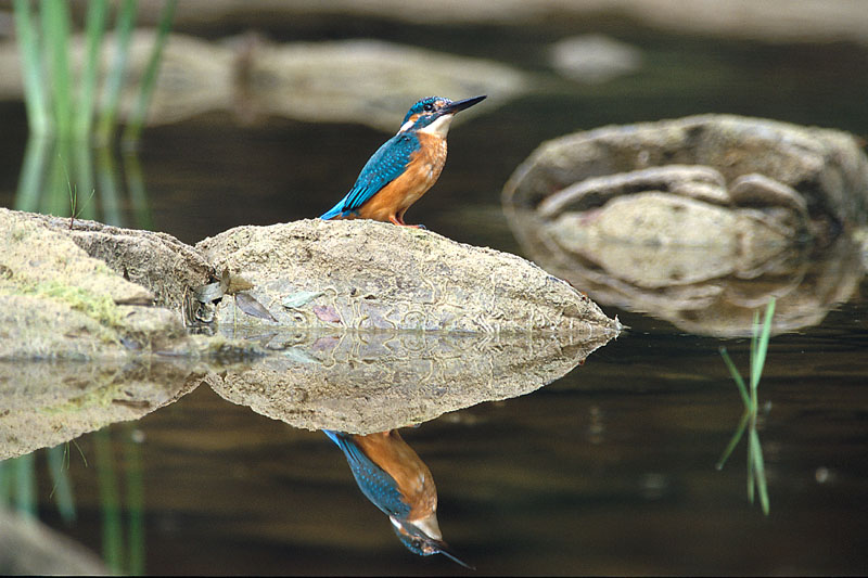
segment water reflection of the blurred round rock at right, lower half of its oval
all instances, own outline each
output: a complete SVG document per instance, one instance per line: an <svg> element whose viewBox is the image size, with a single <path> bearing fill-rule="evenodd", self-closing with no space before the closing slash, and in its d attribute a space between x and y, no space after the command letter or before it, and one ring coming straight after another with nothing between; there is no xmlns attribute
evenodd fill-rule
<svg viewBox="0 0 868 578"><path fill-rule="evenodd" d="M720 261L706 248L564 244L558 226L532 211L513 211L510 222L528 257L595 301L644 311L695 335L750 335L753 312L773 296L773 333L818 325L856 294L865 275L863 249L847 235L825 247L781 248L748 269L715 268ZM684 279L673 279L677 271ZM660 282L664 278L669 283Z"/></svg>

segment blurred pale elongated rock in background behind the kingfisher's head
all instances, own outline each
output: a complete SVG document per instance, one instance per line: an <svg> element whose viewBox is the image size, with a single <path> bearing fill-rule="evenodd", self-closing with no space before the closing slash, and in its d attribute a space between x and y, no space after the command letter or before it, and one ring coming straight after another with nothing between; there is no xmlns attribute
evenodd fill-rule
<svg viewBox="0 0 868 578"><path fill-rule="evenodd" d="M258 42L252 53L250 93L261 114L361 123L391 133L423 97L497 94L493 106L469 111L463 121L507 104L529 85L506 64L379 40Z"/></svg>

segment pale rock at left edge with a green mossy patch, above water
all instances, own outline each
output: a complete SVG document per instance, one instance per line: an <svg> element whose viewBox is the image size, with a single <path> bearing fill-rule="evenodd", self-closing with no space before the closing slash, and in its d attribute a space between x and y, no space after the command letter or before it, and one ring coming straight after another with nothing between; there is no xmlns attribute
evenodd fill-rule
<svg viewBox="0 0 868 578"><path fill-rule="evenodd" d="M187 339L180 314L56 221L0 208L0 360L111 359Z"/></svg>

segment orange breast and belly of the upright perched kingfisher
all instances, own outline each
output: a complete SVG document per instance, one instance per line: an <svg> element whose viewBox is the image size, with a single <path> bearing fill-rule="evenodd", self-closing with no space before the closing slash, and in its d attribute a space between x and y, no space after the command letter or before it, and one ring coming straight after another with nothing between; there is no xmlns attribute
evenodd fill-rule
<svg viewBox="0 0 868 578"><path fill-rule="evenodd" d="M378 221L397 217L400 220L410 205L437 182L446 163L446 139L420 133L419 141L422 146L410 156L407 170L359 207L359 217Z"/></svg>

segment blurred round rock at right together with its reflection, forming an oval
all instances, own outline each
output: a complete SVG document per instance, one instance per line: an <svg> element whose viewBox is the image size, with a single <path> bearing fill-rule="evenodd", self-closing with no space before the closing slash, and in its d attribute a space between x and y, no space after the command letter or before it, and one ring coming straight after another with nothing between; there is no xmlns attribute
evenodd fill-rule
<svg viewBox="0 0 868 578"><path fill-rule="evenodd" d="M850 134L755 118L604 127L542 144L503 204L527 253L601 303L745 335L775 295L783 331L863 275L845 237L868 217L868 158Z"/></svg>

